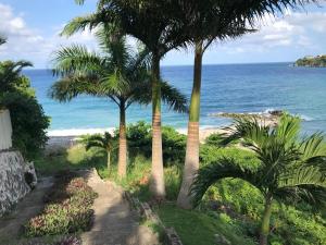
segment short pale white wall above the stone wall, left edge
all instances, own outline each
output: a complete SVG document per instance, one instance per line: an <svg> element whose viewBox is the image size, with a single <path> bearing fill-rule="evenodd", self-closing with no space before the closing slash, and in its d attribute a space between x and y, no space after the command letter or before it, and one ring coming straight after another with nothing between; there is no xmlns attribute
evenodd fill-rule
<svg viewBox="0 0 326 245"><path fill-rule="evenodd" d="M0 109L0 150L12 147L12 126L9 110Z"/></svg>

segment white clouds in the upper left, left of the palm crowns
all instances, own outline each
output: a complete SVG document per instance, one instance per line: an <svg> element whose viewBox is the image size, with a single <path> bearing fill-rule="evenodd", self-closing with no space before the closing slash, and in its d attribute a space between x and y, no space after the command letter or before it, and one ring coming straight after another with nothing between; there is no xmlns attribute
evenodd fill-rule
<svg viewBox="0 0 326 245"><path fill-rule="evenodd" d="M0 34L7 44L0 47L0 60L29 60L37 68L49 66L51 53L61 46L78 42L93 47L93 35L84 32L72 38L60 37L59 28L52 36L43 36L38 29L30 28L22 14L16 14L10 5L0 3Z"/></svg>

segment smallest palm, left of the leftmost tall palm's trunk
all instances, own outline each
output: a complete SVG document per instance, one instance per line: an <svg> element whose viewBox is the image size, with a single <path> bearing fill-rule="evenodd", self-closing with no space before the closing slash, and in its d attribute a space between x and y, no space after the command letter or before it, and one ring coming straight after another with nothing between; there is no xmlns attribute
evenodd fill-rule
<svg viewBox="0 0 326 245"><path fill-rule="evenodd" d="M111 155L114 149L117 148L116 139L109 133L105 132L103 135L101 134L93 134L90 136L85 136L82 139L82 143L85 144L86 150L89 150L91 148L101 148L106 151L106 164L108 164L108 171L110 173L111 171Z"/></svg>

